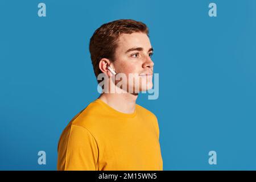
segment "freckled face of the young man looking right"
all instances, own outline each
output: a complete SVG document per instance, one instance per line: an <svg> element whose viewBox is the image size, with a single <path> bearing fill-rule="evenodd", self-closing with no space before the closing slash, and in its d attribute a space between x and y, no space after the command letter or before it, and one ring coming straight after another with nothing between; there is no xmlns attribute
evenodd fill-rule
<svg viewBox="0 0 256 182"><path fill-rule="evenodd" d="M118 47L115 50L115 61L113 62L115 72L124 73L129 78L129 73L137 73L135 79L139 82L125 82L130 89L139 91L151 89L154 63L151 60L152 47L148 36L142 32L133 34L121 34Z"/></svg>

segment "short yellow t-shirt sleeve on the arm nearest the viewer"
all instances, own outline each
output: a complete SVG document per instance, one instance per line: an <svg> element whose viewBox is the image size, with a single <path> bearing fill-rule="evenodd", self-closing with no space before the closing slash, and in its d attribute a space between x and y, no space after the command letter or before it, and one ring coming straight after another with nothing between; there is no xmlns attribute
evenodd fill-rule
<svg viewBox="0 0 256 182"><path fill-rule="evenodd" d="M72 125L68 137L64 170L98 170L98 146L85 127Z"/></svg>

